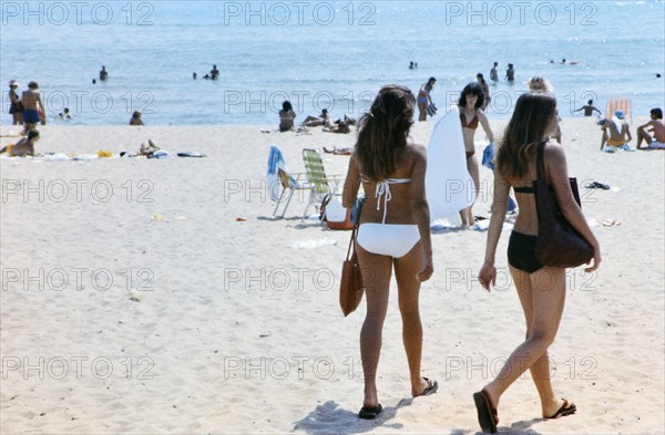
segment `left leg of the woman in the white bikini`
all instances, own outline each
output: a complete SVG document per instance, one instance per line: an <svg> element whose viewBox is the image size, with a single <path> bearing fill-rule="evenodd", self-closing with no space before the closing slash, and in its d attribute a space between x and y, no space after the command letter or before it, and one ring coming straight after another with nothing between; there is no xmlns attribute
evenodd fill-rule
<svg viewBox="0 0 665 435"><path fill-rule="evenodd" d="M356 244L358 261L362 270L362 283L367 300L367 315L360 330L360 358L365 375L364 406L379 404L377 394L377 366L381 354L381 334L388 310L388 293L392 273L392 258L371 253Z"/></svg>

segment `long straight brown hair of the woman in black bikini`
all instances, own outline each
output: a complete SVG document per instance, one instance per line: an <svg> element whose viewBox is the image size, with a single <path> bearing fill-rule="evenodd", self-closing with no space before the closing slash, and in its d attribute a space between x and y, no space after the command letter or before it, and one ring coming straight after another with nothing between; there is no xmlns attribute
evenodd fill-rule
<svg viewBox="0 0 665 435"><path fill-rule="evenodd" d="M535 145L556 115L556 99L548 92L522 94L497 152L497 170L505 179L522 178L535 155Z"/></svg>

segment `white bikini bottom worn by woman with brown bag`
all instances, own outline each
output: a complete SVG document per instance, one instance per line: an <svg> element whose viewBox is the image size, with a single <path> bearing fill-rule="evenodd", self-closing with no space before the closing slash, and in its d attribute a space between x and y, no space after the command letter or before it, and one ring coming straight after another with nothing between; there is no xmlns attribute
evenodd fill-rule
<svg viewBox="0 0 665 435"><path fill-rule="evenodd" d="M356 241L366 251L400 258L420 240L417 225L362 224Z"/></svg>

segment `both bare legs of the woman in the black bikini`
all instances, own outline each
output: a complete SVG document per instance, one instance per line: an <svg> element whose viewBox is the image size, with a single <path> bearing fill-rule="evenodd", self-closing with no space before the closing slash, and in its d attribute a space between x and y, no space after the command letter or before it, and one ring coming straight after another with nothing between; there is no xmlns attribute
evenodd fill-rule
<svg viewBox="0 0 665 435"><path fill-rule="evenodd" d="M503 392L526 369L532 369L531 373L541 395L543 416L549 416L561 405L550 384L548 348L556 336L563 313L565 269L543 267L529 275L511 267L511 273L529 322L528 338L513 351L501 372L485 385L484 391L497 407Z"/></svg>

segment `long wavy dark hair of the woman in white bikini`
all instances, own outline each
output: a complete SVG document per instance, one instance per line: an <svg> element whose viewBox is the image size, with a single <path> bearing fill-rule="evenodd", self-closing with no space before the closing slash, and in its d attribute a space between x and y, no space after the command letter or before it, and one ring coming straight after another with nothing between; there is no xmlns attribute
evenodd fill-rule
<svg viewBox="0 0 665 435"><path fill-rule="evenodd" d="M369 113L358 124L355 158L367 179L380 182L395 173L413 124L416 97L408 87L381 87Z"/></svg>

